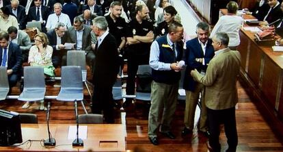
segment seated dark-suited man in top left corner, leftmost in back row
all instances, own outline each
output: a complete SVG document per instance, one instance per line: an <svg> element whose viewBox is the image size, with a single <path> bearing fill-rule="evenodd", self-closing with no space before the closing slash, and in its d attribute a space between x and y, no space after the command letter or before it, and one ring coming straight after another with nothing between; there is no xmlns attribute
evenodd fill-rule
<svg viewBox="0 0 283 152"><path fill-rule="evenodd" d="M18 0L12 0L11 5L7 5L6 7L10 10L11 14L16 17L18 23L20 24L18 25L19 29L25 29L25 25L27 24L25 8L22 5L19 5Z"/></svg>

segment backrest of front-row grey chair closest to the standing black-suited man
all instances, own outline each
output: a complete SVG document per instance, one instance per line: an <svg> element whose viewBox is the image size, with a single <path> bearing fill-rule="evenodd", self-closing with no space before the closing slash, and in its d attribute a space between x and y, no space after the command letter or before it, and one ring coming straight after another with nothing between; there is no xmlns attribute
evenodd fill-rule
<svg viewBox="0 0 283 152"><path fill-rule="evenodd" d="M62 66L61 77L61 88L83 89L81 66Z"/></svg>

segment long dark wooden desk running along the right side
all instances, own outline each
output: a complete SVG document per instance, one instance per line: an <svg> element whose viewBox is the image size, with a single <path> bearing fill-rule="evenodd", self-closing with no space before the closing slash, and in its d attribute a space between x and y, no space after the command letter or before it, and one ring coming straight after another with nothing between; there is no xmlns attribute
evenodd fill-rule
<svg viewBox="0 0 283 152"><path fill-rule="evenodd" d="M220 10L220 14L227 14L227 10ZM243 18L254 16L244 15ZM276 134L283 136L283 53L273 52L271 45L275 44L258 45L251 31L241 28L239 34L241 44L237 49L241 53L241 76L258 99L255 103L262 116L276 129Z"/></svg>

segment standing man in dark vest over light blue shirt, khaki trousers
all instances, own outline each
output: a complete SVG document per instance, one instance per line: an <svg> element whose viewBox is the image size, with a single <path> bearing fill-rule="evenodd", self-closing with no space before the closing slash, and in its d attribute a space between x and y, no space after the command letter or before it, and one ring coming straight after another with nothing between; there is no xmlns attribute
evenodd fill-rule
<svg viewBox="0 0 283 152"><path fill-rule="evenodd" d="M148 116L148 138L159 144L157 131L170 139L176 137L170 131L170 123L176 110L178 81L182 66L178 61L183 55L183 25L174 22L168 27L168 34L152 42L150 67L152 68L151 106ZM162 118L161 118L162 116ZM161 121L162 120L162 121Z"/></svg>

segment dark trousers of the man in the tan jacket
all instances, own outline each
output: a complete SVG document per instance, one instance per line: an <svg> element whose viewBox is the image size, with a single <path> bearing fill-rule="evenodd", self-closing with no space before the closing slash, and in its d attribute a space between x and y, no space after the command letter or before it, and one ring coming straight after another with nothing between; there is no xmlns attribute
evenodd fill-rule
<svg viewBox="0 0 283 152"><path fill-rule="evenodd" d="M235 107L226 110L211 110L207 108L208 126L211 136L209 136L209 144L213 151L220 151L219 143L220 124L224 123L225 134L228 143L227 151L236 151L238 144Z"/></svg>

